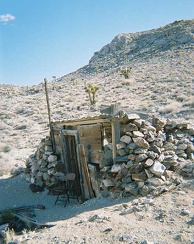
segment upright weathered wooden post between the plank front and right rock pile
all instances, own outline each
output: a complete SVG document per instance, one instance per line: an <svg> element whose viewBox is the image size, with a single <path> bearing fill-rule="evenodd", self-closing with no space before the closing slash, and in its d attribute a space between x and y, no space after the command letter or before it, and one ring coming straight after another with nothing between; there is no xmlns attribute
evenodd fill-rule
<svg viewBox="0 0 194 244"><path fill-rule="evenodd" d="M115 158L117 155L116 151L116 143L120 139L120 123L116 120L115 115L118 113L118 104L111 105L111 128L112 128L112 156L113 156L113 163L115 163Z"/></svg>

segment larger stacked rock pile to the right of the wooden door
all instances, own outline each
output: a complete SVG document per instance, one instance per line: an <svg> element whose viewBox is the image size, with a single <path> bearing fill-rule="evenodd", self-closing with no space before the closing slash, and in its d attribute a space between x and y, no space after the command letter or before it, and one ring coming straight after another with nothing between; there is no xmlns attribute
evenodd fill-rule
<svg viewBox="0 0 194 244"><path fill-rule="evenodd" d="M153 123L131 120L117 143L114 164L111 144L102 160L102 195L146 195L171 185L173 172L194 177L194 129L154 117ZM177 179L175 180L177 183Z"/></svg>

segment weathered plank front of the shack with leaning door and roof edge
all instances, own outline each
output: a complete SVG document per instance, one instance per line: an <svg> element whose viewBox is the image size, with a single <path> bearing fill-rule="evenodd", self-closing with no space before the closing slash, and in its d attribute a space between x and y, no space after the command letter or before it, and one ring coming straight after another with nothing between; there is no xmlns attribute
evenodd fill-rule
<svg viewBox="0 0 194 244"><path fill-rule="evenodd" d="M118 110L117 104L97 117L51 122L55 152L63 163L64 172L76 173L76 184L83 198L99 195L97 174L105 146L111 143L114 162L116 143L122 133L122 124L126 122L126 116Z"/></svg>

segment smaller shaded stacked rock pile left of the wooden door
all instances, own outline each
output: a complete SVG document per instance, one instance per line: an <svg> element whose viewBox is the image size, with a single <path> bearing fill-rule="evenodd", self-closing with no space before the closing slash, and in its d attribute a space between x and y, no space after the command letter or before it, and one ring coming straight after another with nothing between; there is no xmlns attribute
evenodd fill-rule
<svg viewBox="0 0 194 244"><path fill-rule="evenodd" d="M64 180L63 165L54 154L49 137L41 140L35 154L26 160L26 180L40 187L49 187Z"/></svg>

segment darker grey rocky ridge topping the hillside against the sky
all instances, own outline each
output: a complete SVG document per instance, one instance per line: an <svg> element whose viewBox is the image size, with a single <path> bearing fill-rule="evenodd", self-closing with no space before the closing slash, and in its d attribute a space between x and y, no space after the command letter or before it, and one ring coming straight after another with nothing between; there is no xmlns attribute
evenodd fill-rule
<svg viewBox="0 0 194 244"><path fill-rule="evenodd" d="M117 35L111 43L95 52L89 64L78 70L81 74L133 66L156 57L193 50L194 19L175 21L158 29ZM181 52L179 52L181 50Z"/></svg>

